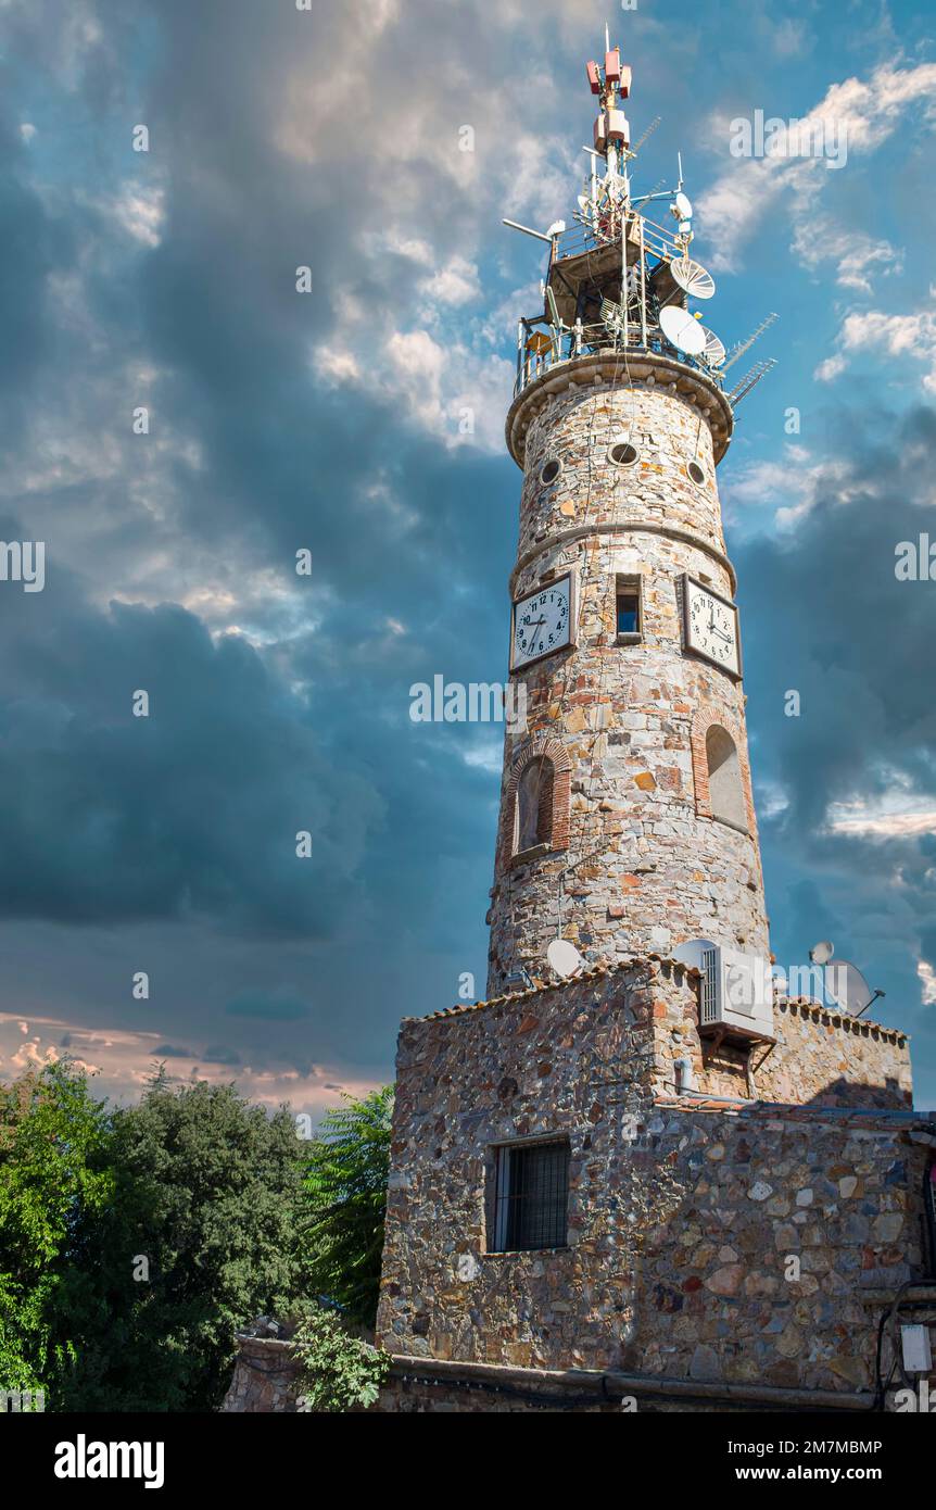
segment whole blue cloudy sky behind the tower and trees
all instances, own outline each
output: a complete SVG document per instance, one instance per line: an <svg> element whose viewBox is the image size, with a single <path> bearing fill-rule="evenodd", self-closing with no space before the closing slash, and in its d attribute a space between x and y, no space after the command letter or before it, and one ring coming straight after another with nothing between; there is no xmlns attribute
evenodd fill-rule
<svg viewBox="0 0 936 1510"><path fill-rule="evenodd" d="M0 583L0 1075L166 1059L317 1114L483 992L500 729L409 687L506 675L542 257L500 219L569 217L607 14L711 323L781 316L720 468L774 950L856 960L936 1105L925 9L0 0L0 538L47 551ZM756 110L847 160L732 157Z"/></svg>

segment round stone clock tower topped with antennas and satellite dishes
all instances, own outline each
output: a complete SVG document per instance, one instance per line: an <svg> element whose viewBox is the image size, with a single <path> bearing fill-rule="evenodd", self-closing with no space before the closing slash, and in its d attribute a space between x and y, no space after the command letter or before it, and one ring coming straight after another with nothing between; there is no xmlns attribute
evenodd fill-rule
<svg viewBox="0 0 936 1510"><path fill-rule="evenodd" d="M617 50L589 82L595 166L577 223L543 237L545 308L519 322L506 427L527 717L504 744L489 995L543 978L557 936L592 962L694 938L768 951L716 480L732 402L725 347L693 317L714 284L681 187L655 196L669 226L631 201Z"/></svg>

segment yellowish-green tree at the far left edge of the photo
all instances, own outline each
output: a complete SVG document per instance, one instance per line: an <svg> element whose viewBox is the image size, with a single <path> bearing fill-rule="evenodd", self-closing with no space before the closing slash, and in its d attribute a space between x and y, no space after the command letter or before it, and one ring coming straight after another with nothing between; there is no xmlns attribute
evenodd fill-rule
<svg viewBox="0 0 936 1510"><path fill-rule="evenodd" d="M113 1194L112 1123L68 1060L0 1086L0 1386L51 1385L77 1356L63 1303L83 1232Z"/></svg>

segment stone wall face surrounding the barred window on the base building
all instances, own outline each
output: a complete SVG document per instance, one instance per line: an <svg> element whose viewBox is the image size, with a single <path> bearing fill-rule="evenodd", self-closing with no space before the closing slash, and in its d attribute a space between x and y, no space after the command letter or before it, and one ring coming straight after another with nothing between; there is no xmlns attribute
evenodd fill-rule
<svg viewBox="0 0 936 1510"><path fill-rule="evenodd" d="M627 1149L652 1105L654 1000L675 989L636 968L403 1022L377 1341L540 1367L616 1357ZM492 1145L536 1134L571 1142L569 1247L491 1253Z"/></svg>

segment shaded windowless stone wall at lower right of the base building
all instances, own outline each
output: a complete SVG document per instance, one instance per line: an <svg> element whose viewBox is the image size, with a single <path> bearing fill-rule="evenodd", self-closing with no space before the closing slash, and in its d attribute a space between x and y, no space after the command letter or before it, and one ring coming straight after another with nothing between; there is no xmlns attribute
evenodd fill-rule
<svg viewBox="0 0 936 1510"><path fill-rule="evenodd" d="M657 1110L633 1151L645 1181L625 1368L873 1388L868 1300L922 1274L925 1151L900 1113L827 1119Z"/></svg>

